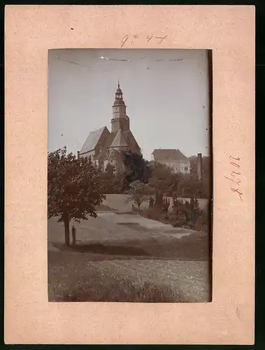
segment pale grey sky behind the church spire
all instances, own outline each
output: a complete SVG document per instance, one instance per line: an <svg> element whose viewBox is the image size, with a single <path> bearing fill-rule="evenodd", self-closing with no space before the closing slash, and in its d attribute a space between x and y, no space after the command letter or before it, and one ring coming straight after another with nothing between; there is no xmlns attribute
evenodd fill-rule
<svg viewBox="0 0 265 350"><path fill-rule="evenodd" d="M145 159L155 148L209 155L207 51L123 48L49 50L49 152L76 154L89 132L110 130L118 79Z"/></svg>

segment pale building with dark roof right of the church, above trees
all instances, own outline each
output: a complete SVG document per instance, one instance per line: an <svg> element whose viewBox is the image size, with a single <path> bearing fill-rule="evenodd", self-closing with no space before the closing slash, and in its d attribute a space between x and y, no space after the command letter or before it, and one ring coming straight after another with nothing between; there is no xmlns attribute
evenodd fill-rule
<svg viewBox="0 0 265 350"><path fill-rule="evenodd" d="M189 174L190 161L179 149L155 149L152 152L155 162L170 167L175 173Z"/></svg>

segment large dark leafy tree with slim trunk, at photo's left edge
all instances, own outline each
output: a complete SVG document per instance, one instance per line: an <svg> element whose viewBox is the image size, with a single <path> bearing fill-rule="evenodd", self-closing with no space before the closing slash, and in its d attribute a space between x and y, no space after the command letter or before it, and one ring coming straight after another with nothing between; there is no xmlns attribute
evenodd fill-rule
<svg viewBox="0 0 265 350"><path fill-rule="evenodd" d="M103 195L101 171L87 158L67 154L66 147L48 153L48 218L64 223L65 242L70 244L69 223L87 216L96 218L95 207Z"/></svg>

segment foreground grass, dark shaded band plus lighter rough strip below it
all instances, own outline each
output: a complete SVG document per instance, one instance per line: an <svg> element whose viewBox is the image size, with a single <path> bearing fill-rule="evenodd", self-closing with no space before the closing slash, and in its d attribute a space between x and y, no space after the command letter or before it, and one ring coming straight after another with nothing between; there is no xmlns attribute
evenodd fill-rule
<svg viewBox="0 0 265 350"><path fill-rule="evenodd" d="M48 253L50 301L208 301L206 237L58 247Z"/></svg>

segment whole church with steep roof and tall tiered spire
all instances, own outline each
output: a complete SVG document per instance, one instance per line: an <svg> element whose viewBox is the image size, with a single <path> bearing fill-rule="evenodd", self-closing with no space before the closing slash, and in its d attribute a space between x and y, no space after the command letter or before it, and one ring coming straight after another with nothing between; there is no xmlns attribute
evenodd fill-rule
<svg viewBox="0 0 265 350"><path fill-rule="evenodd" d="M130 150L141 154L134 135L130 130L130 120L127 116L127 106L124 104L120 82L118 82L113 103L113 118L111 130L101 127L90 132L84 146L78 152L79 157L90 157L98 167L106 169L108 164L113 165L117 172L124 170L122 152Z"/></svg>

